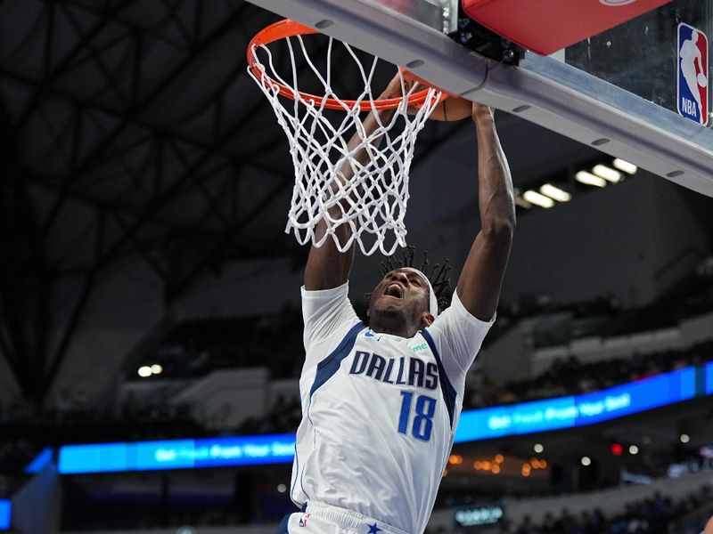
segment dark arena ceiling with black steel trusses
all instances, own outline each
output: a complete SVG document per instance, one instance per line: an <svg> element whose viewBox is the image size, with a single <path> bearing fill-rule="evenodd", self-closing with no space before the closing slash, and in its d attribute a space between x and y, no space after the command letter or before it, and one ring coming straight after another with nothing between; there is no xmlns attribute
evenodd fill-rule
<svg viewBox="0 0 713 534"><path fill-rule="evenodd" d="M43 399L97 278L128 256L166 303L225 263L303 261L283 233L287 142L246 74L274 20L241 0L0 0L0 351L27 398ZM500 122L516 185L595 154ZM429 125L414 167L464 127ZM53 317L68 278L81 289Z"/></svg>

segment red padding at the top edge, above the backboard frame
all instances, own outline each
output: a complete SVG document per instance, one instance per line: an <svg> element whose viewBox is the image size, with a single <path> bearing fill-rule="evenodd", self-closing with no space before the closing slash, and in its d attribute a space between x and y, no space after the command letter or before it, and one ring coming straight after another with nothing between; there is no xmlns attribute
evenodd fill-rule
<svg viewBox="0 0 713 534"><path fill-rule="evenodd" d="M463 11L514 44L549 55L670 1L463 0Z"/></svg>

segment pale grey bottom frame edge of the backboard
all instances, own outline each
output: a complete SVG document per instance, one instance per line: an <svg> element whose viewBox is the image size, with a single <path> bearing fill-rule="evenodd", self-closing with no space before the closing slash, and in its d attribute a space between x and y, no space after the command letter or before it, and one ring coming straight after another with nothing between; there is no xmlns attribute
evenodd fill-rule
<svg viewBox="0 0 713 534"><path fill-rule="evenodd" d="M713 132L550 57L518 67L471 52L443 22L399 0L249 0L412 70L448 93L503 109L713 197ZM417 4L416 2L415 4ZM401 6L401 9L398 7ZM416 10L418 11L418 10Z"/></svg>

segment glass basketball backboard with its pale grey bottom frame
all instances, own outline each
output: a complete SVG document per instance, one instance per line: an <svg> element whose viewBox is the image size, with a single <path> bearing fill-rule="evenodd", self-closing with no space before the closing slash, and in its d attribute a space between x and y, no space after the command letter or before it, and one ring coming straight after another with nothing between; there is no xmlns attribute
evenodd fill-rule
<svg viewBox="0 0 713 534"><path fill-rule="evenodd" d="M525 53L517 67L446 35L452 0L250 2L713 197L713 132L675 110L676 27L708 33L713 0L675 0L555 57Z"/></svg>

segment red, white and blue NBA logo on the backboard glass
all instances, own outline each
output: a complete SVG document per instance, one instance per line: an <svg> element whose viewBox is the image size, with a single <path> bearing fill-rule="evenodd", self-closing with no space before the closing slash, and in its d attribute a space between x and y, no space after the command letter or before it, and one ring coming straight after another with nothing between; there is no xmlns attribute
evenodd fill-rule
<svg viewBox="0 0 713 534"><path fill-rule="evenodd" d="M708 124L708 37L699 29L678 25L678 114Z"/></svg>

